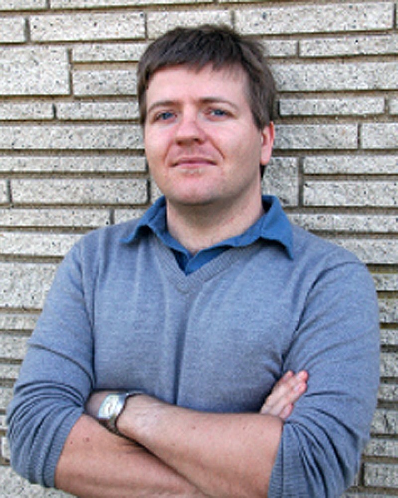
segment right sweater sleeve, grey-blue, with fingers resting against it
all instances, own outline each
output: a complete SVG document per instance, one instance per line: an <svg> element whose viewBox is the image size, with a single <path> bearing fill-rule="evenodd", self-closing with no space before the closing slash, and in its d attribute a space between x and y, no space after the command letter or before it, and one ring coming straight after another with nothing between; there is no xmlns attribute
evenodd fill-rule
<svg viewBox="0 0 398 498"><path fill-rule="evenodd" d="M379 320L362 264L324 270L308 293L285 370L307 369L284 425L269 498L340 497L358 472L379 384Z"/></svg>

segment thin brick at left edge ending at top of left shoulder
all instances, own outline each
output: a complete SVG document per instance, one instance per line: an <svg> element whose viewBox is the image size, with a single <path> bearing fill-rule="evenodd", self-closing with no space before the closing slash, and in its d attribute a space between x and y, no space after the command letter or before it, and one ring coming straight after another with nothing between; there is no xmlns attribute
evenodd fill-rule
<svg viewBox="0 0 398 498"><path fill-rule="evenodd" d="M0 232L0 254L14 256L64 256L81 234Z"/></svg>

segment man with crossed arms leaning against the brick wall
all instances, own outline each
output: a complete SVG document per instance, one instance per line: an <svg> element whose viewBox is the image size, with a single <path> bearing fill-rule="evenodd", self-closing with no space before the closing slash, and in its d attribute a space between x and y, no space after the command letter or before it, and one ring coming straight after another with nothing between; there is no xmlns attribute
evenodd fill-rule
<svg viewBox="0 0 398 498"><path fill-rule="evenodd" d="M261 47L227 28L147 49L141 122L164 198L60 265L8 412L28 479L80 497L350 485L378 385L375 292L353 255L261 197L274 93Z"/></svg>

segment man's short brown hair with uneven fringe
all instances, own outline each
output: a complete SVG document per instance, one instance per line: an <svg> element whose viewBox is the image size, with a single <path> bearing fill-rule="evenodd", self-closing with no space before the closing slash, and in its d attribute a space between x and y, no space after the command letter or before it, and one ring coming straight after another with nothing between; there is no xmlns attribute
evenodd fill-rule
<svg viewBox="0 0 398 498"><path fill-rule="evenodd" d="M262 45L226 26L175 28L156 39L138 65L140 122L146 119L146 89L154 73L165 67L202 69L241 67L247 76L247 101L259 130L274 117L275 80Z"/></svg>

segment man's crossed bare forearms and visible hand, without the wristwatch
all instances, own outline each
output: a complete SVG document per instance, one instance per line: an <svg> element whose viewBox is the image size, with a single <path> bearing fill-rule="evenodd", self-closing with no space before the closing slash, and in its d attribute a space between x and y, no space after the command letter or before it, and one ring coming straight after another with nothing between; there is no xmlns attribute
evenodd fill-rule
<svg viewBox="0 0 398 498"><path fill-rule="evenodd" d="M125 438L93 419L106 395L95 393L66 440L56 486L82 498L267 496L284 420L307 380L286 373L259 413L205 413L135 396L118 420Z"/></svg>

